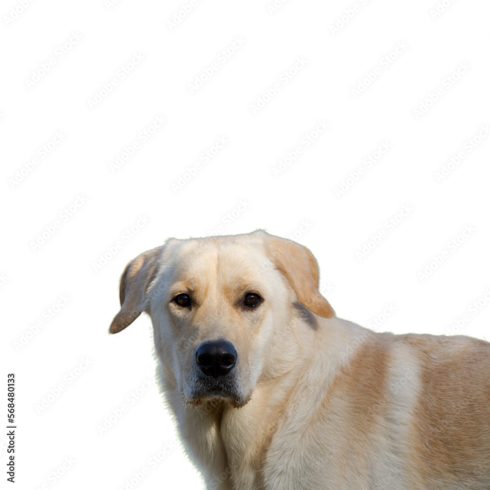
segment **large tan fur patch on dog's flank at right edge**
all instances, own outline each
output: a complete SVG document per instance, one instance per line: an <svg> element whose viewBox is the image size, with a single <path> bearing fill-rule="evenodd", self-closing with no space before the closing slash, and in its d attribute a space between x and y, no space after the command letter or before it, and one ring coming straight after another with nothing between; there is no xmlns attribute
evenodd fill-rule
<svg viewBox="0 0 490 490"><path fill-rule="evenodd" d="M410 342L418 347L421 365L413 414L413 458L421 483L431 488L469 479L472 489L489 489L489 344L427 335Z"/></svg>

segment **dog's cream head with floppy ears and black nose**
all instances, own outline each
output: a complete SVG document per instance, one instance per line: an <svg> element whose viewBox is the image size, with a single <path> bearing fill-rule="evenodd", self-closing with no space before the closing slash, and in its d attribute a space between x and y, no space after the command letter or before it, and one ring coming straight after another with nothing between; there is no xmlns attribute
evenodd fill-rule
<svg viewBox="0 0 490 490"><path fill-rule="evenodd" d="M257 382L289 369L298 320L316 328L311 312L334 316L318 285L306 247L261 230L171 239L127 265L109 331L147 312L170 389L194 407L217 398L241 407Z"/></svg>

